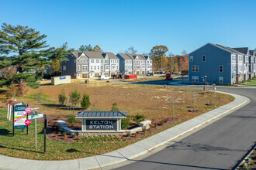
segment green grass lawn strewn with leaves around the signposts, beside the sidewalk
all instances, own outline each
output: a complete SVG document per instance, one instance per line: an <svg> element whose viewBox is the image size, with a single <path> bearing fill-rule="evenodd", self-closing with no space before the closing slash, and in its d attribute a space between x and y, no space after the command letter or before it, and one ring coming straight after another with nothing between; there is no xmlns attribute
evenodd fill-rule
<svg viewBox="0 0 256 170"><path fill-rule="evenodd" d="M7 110L0 109L0 154L38 160L65 160L85 158L114 151L130 142L74 142L64 143L47 138L47 153L43 154L43 124L37 121L37 148L35 148L35 121L26 130L16 130L12 137L12 121L6 119Z"/></svg>

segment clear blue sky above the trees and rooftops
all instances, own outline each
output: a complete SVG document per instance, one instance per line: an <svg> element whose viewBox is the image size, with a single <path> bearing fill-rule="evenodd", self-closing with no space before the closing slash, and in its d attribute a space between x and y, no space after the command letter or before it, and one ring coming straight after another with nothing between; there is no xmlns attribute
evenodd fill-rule
<svg viewBox="0 0 256 170"><path fill-rule="evenodd" d="M99 45L123 53L153 46L188 53L207 42L256 48L255 0L0 1L0 23L29 26L50 46Z"/></svg>

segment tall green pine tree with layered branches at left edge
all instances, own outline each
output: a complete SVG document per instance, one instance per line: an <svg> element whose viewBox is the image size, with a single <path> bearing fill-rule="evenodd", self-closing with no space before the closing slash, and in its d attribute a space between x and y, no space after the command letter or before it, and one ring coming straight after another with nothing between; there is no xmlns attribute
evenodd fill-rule
<svg viewBox="0 0 256 170"><path fill-rule="evenodd" d="M28 26L2 24L0 29L0 69L16 66L12 80L1 77L0 85L10 86L24 80L29 87L38 88L44 66L50 64L47 58L52 53L48 48L47 36Z"/></svg>

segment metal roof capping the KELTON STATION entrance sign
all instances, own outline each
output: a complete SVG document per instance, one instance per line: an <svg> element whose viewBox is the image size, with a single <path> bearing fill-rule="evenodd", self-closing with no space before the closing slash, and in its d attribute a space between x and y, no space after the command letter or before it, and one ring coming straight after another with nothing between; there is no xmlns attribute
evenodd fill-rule
<svg viewBox="0 0 256 170"><path fill-rule="evenodd" d="M80 111L76 118L126 117L125 111Z"/></svg>

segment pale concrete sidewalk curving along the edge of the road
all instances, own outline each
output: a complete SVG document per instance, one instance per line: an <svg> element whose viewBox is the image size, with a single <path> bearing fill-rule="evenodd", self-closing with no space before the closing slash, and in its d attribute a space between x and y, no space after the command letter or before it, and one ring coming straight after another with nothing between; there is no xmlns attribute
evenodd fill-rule
<svg viewBox="0 0 256 170"><path fill-rule="evenodd" d="M247 97L242 97L240 95L231 93L228 94L235 97L235 100L230 104L218 107L215 110L207 112L206 114L202 114L199 117L195 117L189 121L183 122L182 124L178 124L173 128L169 128L166 131L162 131L159 134L155 134L150 138L146 138L142 141L134 143L133 145L126 146L125 148L121 148L104 155L96 155L88 158L67 161L35 161L0 155L0 169L92 169L103 168L120 162L126 162L129 159L144 155L148 151L164 145L168 141L178 138L182 134L192 131L202 124L212 121L216 117L220 117L221 115L227 114L232 110L236 110L238 107L242 107L250 101Z"/></svg>

